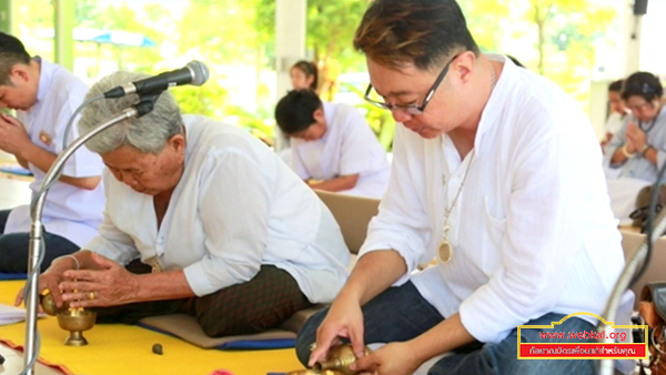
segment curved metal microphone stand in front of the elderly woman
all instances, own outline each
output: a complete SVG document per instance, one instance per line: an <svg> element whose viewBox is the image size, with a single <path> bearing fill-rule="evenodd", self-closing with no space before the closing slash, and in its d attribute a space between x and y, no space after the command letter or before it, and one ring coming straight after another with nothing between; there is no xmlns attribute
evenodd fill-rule
<svg viewBox="0 0 666 375"><path fill-rule="evenodd" d="M58 179L60 171L64 166L67 160L77 151L80 146L82 146L85 142L88 142L91 138L100 133L101 131L131 118L142 116L150 111L152 111L154 105L154 99L157 97L150 98L149 100L143 100L129 109L122 111L119 114L115 114L104 121L103 123L97 125L95 128L90 129L88 132L83 133L77 140L74 140L67 149L64 149L56 159L47 174L44 175L44 180L40 186L40 191L37 194L36 199L32 202L31 209L31 219L32 225L30 227L30 245L29 245L29 259L28 259L28 281L26 283L26 352L23 357L24 371L22 374L33 375L33 365L37 359L37 311L38 311L38 292L39 292L39 274L40 274L40 263L43 257L43 230L42 230L42 213L43 206L47 199L47 193L49 189L53 184L53 182Z"/></svg>

